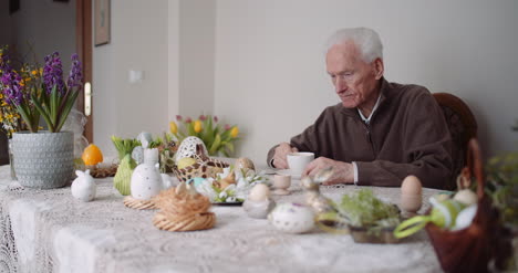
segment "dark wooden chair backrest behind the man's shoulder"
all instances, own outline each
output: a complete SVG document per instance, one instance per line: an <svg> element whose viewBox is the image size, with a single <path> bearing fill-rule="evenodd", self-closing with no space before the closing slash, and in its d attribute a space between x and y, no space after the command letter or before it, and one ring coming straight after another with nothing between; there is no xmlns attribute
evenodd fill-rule
<svg viewBox="0 0 518 273"><path fill-rule="evenodd" d="M453 190L456 188L455 178L466 166L468 141L477 137L477 120L469 107L457 96L448 93L434 93L433 95L443 109L454 143L452 147L454 172L446 186L446 189Z"/></svg>

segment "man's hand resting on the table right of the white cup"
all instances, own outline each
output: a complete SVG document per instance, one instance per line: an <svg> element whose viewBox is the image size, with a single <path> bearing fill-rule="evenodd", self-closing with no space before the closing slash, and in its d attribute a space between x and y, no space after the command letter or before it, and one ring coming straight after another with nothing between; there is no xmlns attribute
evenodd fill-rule
<svg viewBox="0 0 518 273"><path fill-rule="evenodd" d="M354 168L352 164L332 160L325 157L319 157L311 161L302 172L302 176L314 177L320 170L333 167L333 175L323 182L323 185L353 183Z"/></svg>

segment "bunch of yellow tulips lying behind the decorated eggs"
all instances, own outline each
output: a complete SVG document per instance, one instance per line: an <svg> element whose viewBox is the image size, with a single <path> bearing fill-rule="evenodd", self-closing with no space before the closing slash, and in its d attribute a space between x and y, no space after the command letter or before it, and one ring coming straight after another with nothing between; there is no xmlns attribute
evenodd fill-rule
<svg viewBox="0 0 518 273"><path fill-rule="evenodd" d="M234 141L239 139L239 128L236 125L226 124L221 126L218 123L218 117L210 115L200 115L196 120L177 115L176 120L178 124L175 122L169 123L169 130L178 143L182 143L188 136L196 136L204 141L209 156L222 154L230 157L234 154Z"/></svg>

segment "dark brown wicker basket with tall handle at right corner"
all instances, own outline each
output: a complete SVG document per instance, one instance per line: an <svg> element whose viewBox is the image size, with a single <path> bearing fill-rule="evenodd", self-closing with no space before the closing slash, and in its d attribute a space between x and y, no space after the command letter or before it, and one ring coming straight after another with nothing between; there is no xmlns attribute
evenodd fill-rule
<svg viewBox="0 0 518 273"><path fill-rule="evenodd" d="M505 229L498 211L491 208L491 200L484 192L483 162L476 139L469 140L467 167L463 174L474 175L477 181L478 209L472 224L449 231L428 223L426 231L445 272L488 272L490 260L510 254L510 245L503 245Z"/></svg>

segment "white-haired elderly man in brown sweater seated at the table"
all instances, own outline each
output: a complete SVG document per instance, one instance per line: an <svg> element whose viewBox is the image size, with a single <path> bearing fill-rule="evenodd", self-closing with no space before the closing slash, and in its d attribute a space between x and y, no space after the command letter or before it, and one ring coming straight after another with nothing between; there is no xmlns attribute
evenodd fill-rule
<svg viewBox="0 0 518 273"><path fill-rule="evenodd" d="M343 29L328 41L325 64L341 103L325 108L302 134L268 153L288 168L287 155L312 151L302 175L332 166L327 183L400 186L408 175L442 188L452 179L452 139L443 113L423 86L383 77L383 46L376 32Z"/></svg>

